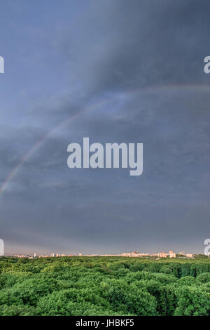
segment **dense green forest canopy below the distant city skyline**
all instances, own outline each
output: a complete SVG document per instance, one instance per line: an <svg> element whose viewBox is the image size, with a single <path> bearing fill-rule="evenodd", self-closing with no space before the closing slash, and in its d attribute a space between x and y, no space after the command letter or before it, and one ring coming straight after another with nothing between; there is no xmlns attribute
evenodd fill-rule
<svg viewBox="0 0 210 330"><path fill-rule="evenodd" d="M0 258L1 316L209 316L210 259Z"/></svg>

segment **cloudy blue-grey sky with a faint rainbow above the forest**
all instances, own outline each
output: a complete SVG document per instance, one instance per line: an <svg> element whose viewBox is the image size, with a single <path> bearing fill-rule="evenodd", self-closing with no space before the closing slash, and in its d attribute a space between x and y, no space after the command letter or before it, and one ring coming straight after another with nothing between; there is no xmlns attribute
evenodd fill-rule
<svg viewBox="0 0 210 330"><path fill-rule="evenodd" d="M0 237L10 253L203 253L208 1L0 1ZM67 146L143 143L144 172Z"/></svg>

